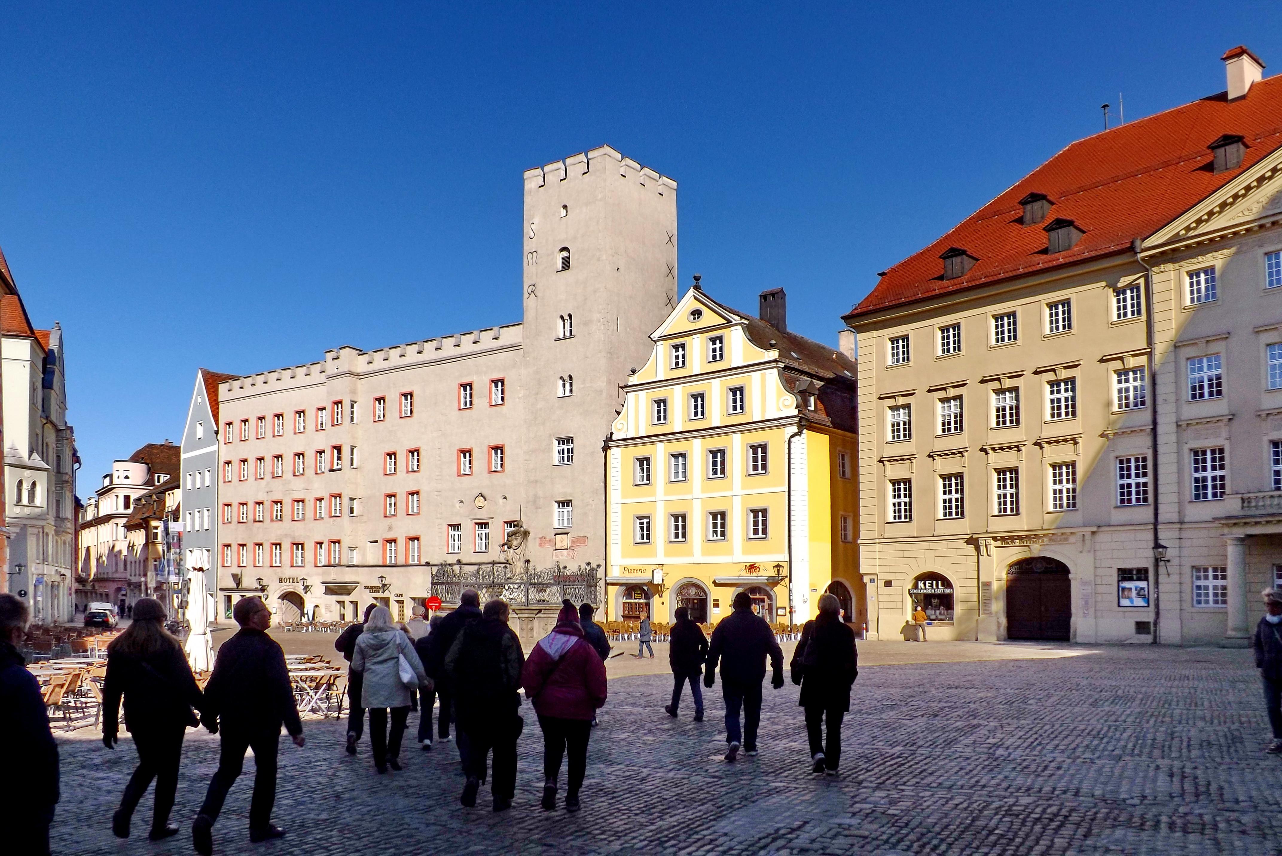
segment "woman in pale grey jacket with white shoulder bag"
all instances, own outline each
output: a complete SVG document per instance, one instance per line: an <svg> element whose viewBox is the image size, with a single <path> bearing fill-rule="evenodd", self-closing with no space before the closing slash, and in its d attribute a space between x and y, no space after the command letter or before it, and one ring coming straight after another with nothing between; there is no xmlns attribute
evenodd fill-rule
<svg viewBox="0 0 1282 856"><path fill-rule="evenodd" d="M392 614L379 606L369 614L365 629L356 638L351 670L364 677L360 704L369 711L369 742L374 750L374 766L386 773L391 765L401 769L400 745L409 719L410 689L400 677L400 660L405 657L418 678L417 688L429 691L432 679L414 652L414 643L392 624ZM387 710L392 711L391 736L387 734Z"/></svg>

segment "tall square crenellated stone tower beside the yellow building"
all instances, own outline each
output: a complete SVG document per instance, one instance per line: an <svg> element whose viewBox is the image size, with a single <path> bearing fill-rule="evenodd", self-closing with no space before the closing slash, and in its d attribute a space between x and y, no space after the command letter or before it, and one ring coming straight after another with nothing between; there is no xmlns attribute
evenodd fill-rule
<svg viewBox="0 0 1282 856"><path fill-rule="evenodd" d="M605 560L601 443L677 301L677 183L601 146L524 173L527 556ZM573 438L558 464L558 438ZM558 501L573 522L556 525ZM564 520L562 520L563 523Z"/></svg>

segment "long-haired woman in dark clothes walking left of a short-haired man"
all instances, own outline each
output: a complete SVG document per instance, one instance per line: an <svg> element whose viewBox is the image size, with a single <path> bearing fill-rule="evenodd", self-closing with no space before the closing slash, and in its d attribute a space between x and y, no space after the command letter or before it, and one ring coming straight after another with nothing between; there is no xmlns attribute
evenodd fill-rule
<svg viewBox="0 0 1282 856"><path fill-rule="evenodd" d="M103 682L103 745L115 748L119 733L121 696L124 720L138 751L138 766L124 787L121 807L112 815L117 838L129 837L129 819L151 779L156 780L151 812L151 841L178 834L169 811L178 792L178 762L182 738L196 725L192 707L204 707L200 687L182 652L182 643L164 629L160 601L144 597L133 605L133 621L106 647L106 678Z"/></svg>

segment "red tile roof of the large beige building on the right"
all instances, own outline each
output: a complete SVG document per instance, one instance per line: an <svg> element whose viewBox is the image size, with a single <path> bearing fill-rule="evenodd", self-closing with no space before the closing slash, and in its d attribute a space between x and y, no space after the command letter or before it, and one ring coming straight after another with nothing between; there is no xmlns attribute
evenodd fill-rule
<svg viewBox="0 0 1282 856"><path fill-rule="evenodd" d="M1232 51L1229 51L1232 53ZM1240 169L1215 174L1206 147L1223 135L1245 137ZM1078 140L924 250L886 270L846 319L924 297L1129 252L1219 187L1282 146L1282 76L1255 83L1246 97L1211 95ZM1042 223L1020 226L1019 200L1045 193ZM1073 220L1086 233L1070 250L1046 254L1044 227ZM944 279L940 254L960 247L978 259L963 277Z"/></svg>

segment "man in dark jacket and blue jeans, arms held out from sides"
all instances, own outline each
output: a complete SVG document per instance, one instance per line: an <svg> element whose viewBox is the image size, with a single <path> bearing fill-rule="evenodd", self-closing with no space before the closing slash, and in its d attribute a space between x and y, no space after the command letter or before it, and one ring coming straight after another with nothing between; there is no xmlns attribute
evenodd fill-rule
<svg viewBox="0 0 1282 856"><path fill-rule="evenodd" d="M740 741L744 751L756 755L756 728L762 723L762 679L765 677L765 657L770 659L774 673L770 686L783 686L783 651L774 639L774 630L765 619L753 611L753 598L747 592L735 595L735 610L722 619L713 630L708 645L708 670L704 686L712 689L717 680L717 663L720 661L722 698L726 700L726 760L738 757ZM744 732L738 729L738 711L744 709Z"/></svg>

